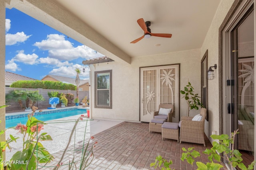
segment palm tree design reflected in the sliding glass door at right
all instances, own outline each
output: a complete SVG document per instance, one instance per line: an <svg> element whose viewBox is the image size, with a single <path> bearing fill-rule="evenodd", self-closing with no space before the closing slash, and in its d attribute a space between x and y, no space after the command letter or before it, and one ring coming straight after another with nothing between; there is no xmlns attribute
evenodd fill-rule
<svg viewBox="0 0 256 170"><path fill-rule="evenodd" d="M242 64L244 66L244 69L238 70L242 74L238 76L238 78L245 78L244 79L244 87L242 89L241 93L241 111L244 111L244 94L246 89L250 86L251 82L254 83L254 64L252 64L252 67L247 64Z"/></svg>

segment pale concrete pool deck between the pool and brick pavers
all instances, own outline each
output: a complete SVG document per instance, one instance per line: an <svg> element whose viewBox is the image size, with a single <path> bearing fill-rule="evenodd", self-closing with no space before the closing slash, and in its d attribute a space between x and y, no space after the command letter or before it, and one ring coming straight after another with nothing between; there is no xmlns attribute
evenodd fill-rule
<svg viewBox="0 0 256 170"><path fill-rule="evenodd" d="M19 112L17 114L21 113L24 112ZM51 154L60 152L61 150L65 149L72 128L74 127L75 121L76 119L78 119L78 117L80 117L80 115L54 119L52 121L45 122L47 123L47 125L44 125L44 129L41 132L48 133L52 137L53 141L42 141L42 145L44 145L44 147ZM121 123L121 121L106 121L98 119L88 119L84 117L84 120L79 121L78 125L76 126L76 136L74 137L73 135L70 145L76 145L76 143L83 141L84 135L86 135L86 140L88 140L91 136L100 133L110 127L118 125L119 123ZM10 160L14 153L16 153L18 150L22 150L22 134L17 132L18 131L16 131L15 129L6 130L6 138L8 138L10 134L16 137L20 137L19 139L17 139L17 143L13 142L10 144L10 146L12 147L11 152L10 150L6 149L6 160Z"/></svg>

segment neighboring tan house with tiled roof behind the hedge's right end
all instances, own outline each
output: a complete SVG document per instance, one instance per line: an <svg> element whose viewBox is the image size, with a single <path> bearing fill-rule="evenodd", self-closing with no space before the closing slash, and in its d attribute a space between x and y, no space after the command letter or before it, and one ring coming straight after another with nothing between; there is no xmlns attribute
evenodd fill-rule
<svg viewBox="0 0 256 170"><path fill-rule="evenodd" d="M76 85L76 78L69 78L50 74L42 78L42 81L59 81L63 83L70 83ZM79 91L89 91L89 80L80 80Z"/></svg>

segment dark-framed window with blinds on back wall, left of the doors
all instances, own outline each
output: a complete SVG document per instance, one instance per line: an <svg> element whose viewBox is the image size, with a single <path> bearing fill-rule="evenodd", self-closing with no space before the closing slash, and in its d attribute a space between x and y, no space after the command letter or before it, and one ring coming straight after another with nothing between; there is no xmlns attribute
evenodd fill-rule
<svg viewBox="0 0 256 170"><path fill-rule="evenodd" d="M94 78L94 107L112 109L112 70L96 71Z"/></svg>

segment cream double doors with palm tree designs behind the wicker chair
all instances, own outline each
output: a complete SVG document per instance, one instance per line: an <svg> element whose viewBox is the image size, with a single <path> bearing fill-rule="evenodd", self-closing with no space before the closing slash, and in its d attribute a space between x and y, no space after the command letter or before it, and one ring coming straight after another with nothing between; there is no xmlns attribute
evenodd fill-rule
<svg viewBox="0 0 256 170"><path fill-rule="evenodd" d="M140 68L140 121L150 122L159 104L173 104L179 120L179 64Z"/></svg>

